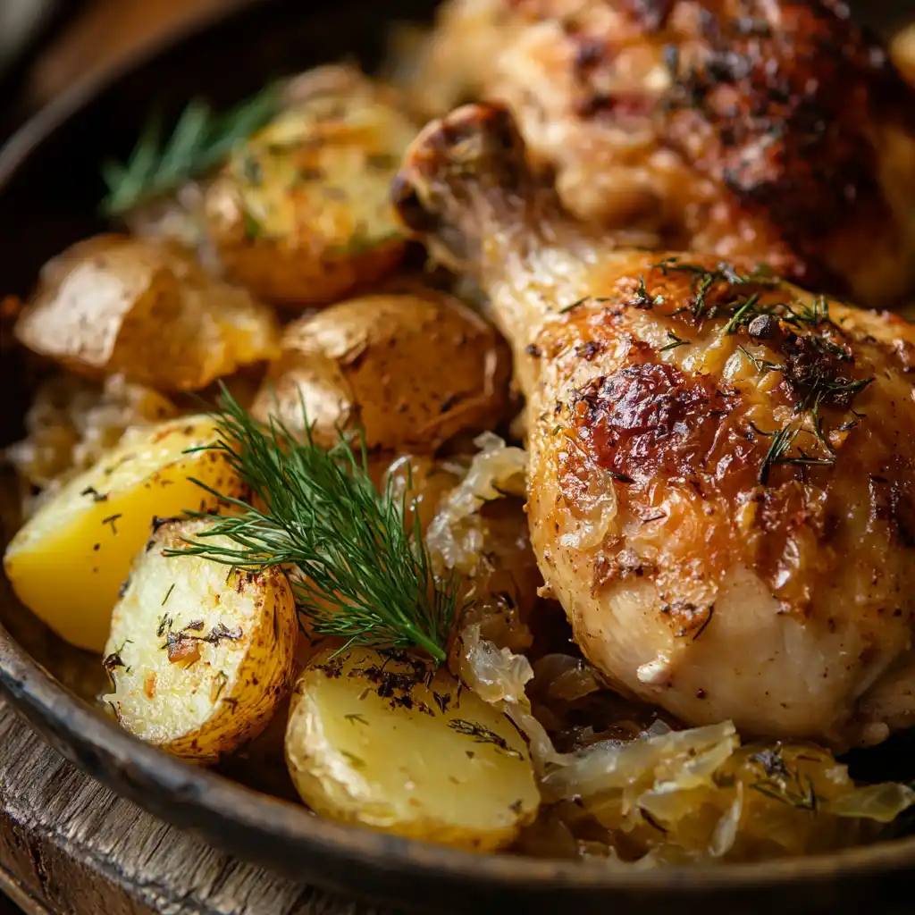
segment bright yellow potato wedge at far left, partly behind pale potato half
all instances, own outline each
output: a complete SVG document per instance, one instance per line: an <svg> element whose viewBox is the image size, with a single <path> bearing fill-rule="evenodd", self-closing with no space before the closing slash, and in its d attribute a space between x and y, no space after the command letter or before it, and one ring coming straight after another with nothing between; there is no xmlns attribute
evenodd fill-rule
<svg viewBox="0 0 915 915"><path fill-rule="evenodd" d="M215 439L210 416L132 429L92 468L69 479L16 533L4 570L16 596L61 637L102 651L111 611L153 519L218 501L242 485L215 451L184 454Z"/></svg>

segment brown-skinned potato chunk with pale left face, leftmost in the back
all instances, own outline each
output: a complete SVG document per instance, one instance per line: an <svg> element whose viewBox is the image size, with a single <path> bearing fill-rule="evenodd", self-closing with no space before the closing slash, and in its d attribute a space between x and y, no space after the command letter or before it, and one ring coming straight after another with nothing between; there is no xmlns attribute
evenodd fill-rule
<svg viewBox="0 0 915 915"><path fill-rule="evenodd" d="M274 358L270 307L207 274L176 244L96 235L45 264L16 339L72 371L196 391Z"/></svg>

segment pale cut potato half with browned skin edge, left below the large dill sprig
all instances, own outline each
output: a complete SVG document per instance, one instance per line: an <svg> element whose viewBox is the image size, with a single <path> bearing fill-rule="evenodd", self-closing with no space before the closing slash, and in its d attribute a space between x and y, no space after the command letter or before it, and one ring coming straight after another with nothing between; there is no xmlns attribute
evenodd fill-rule
<svg viewBox="0 0 915 915"><path fill-rule="evenodd" d="M298 638L281 569L255 574L164 554L212 523L172 520L156 530L114 608L103 662L114 690L105 700L122 727L201 763L264 730L289 693Z"/></svg>

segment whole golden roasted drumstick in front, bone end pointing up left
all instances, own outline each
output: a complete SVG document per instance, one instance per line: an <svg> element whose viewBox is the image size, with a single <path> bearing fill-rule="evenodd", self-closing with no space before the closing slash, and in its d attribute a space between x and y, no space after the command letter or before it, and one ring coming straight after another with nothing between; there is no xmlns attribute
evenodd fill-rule
<svg viewBox="0 0 915 915"><path fill-rule="evenodd" d="M533 547L591 662L694 725L915 724L915 328L588 231L502 106L427 125L393 194L511 342Z"/></svg>

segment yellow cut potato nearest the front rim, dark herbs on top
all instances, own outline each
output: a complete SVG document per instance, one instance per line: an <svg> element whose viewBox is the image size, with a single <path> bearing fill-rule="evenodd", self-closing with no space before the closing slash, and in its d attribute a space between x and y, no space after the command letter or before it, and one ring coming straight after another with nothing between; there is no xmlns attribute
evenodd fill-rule
<svg viewBox="0 0 915 915"><path fill-rule="evenodd" d="M320 652L293 691L285 755L317 813L443 845L509 845L540 802L509 719L401 651Z"/></svg>

